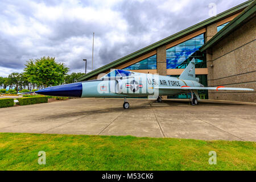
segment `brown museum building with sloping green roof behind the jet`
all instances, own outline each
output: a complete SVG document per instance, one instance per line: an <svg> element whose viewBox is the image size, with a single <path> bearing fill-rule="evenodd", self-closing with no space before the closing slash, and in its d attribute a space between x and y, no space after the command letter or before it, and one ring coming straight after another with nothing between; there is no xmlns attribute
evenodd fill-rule
<svg viewBox="0 0 256 182"><path fill-rule="evenodd" d="M256 102L255 1L246 1L150 46L82 76L97 79L110 69L179 77L195 58L196 77L204 86L251 88L254 91L200 91L201 98ZM168 96L187 98L189 95Z"/></svg>

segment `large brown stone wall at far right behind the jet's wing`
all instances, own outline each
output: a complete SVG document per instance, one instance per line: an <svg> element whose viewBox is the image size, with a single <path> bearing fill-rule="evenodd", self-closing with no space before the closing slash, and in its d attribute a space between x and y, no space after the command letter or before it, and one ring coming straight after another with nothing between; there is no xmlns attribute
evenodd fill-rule
<svg viewBox="0 0 256 182"><path fill-rule="evenodd" d="M208 50L208 85L242 87L251 91L209 90L209 99L256 102L255 17ZM213 68L210 68L213 64Z"/></svg>

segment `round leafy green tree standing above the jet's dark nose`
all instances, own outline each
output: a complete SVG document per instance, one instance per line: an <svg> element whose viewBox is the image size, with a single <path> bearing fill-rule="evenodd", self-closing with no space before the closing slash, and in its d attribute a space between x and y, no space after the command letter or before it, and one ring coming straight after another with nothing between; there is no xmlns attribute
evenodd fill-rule
<svg viewBox="0 0 256 182"><path fill-rule="evenodd" d="M56 63L55 57L29 60L25 66L24 75L28 81L44 87L63 84L69 70L63 63Z"/></svg>

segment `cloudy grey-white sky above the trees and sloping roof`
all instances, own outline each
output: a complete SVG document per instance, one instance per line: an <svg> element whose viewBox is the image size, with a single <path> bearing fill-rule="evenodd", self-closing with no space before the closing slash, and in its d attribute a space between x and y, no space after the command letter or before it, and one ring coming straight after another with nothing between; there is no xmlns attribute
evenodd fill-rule
<svg viewBox="0 0 256 182"><path fill-rule="evenodd" d="M108 64L244 0L1 0L0 76L22 72L29 59L56 57L70 72Z"/></svg>

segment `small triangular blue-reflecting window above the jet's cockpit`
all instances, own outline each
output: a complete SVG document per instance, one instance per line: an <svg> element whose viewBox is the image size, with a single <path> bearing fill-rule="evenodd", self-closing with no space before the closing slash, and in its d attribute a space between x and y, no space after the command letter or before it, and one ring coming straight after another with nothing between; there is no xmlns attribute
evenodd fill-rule
<svg viewBox="0 0 256 182"><path fill-rule="evenodd" d="M156 69L156 55L143 59L138 63L130 65L129 67L123 68L125 70L136 70L136 69Z"/></svg>

